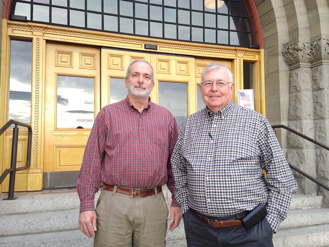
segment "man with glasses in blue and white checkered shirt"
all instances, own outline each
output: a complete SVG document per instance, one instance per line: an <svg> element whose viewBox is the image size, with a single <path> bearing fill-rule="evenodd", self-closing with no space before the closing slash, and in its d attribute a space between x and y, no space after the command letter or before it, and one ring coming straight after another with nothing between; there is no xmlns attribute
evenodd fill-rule
<svg viewBox="0 0 329 247"><path fill-rule="evenodd" d="M297 189L275 133L262 114L233 102L228 67L210 63L199 87L207 107L182 124L171 157L187 244L273 246ZM247 231L240 219L259 204L268 214Z"/></svg>

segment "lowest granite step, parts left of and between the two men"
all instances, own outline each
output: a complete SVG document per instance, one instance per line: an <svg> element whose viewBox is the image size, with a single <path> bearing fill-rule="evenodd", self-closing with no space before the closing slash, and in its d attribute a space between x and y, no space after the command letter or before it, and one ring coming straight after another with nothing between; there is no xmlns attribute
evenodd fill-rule
<svg viewBox="0 0 329 247"><path fill-rule="evenodd" d="M167 230L168 242L184 238L183 221L173 232ZM93 239L89 239L80 230L0 237L0 247L92 247L92 243Z"/></svg>

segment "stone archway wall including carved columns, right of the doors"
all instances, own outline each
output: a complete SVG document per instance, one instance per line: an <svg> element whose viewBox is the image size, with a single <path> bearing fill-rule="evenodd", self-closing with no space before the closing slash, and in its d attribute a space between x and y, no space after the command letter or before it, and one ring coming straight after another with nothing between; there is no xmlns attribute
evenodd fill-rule
<svg viewBox="0 0 329 247"><path fill-rule="evenodd" d="M264 35L266 117L329 144L329 0L255 0ZM277 131L288 162L329 183L329 151ZM295 173L298 193L329 192Z"/></svg>

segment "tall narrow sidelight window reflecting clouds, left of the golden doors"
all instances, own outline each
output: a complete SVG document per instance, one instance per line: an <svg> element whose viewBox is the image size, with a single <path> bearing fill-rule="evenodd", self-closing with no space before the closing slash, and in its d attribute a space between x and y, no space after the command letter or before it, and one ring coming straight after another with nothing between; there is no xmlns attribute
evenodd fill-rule
<svg viewBox="0 0 329 247"><path fill-rule="evenodd" d="M8 119L31 124L32 42L12 40L10 45Z"/></svg>

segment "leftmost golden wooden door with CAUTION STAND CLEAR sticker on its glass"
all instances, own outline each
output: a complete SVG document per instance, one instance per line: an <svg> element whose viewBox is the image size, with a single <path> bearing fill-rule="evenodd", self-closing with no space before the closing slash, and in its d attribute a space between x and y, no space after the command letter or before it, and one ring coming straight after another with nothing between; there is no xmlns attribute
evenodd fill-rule
<svg viewBox="0 0 329 247"><path fill-rule="evenodd" d="M99 48L47 43L43 172L80 169L99 110Z"/></svg>

